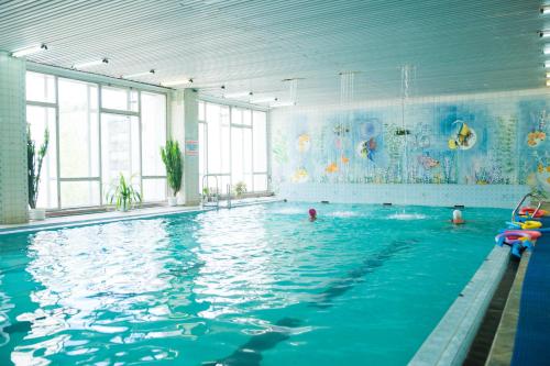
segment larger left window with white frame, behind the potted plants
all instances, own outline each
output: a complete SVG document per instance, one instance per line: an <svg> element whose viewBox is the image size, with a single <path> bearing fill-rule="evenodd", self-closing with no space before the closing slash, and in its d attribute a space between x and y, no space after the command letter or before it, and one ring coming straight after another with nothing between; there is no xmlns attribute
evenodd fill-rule
<svg viewBox="0 0 550 366"><path fill-rule="evenodd" d="M26 115L37 143L50 132L38 207L105 204L120 174L144 201L166 197L160 147L166 142L166 96L26 73Z"/></svg>

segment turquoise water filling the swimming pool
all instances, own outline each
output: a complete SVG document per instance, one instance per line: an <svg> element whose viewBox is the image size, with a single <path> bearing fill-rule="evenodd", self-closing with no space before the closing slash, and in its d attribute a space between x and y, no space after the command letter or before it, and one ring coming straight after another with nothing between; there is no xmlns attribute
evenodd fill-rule
<svg viewBox="0 0 550 366"><path fill-rule="evenodd" d="M0 235L0 364L403 365L509 215L309 207Z"/></svg>

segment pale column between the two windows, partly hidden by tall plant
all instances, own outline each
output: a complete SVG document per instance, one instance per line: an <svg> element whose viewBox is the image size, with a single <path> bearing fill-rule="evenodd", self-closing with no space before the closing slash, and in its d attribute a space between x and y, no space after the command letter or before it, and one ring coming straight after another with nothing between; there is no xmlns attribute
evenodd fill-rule
<svg viewBox="0 0 550 366"><path fill-rule="evenodd" d="M187 206L200 203L199 156L188 152L186 144L199 140L198 92L194 89L177 90L169 95L170 138L177 140L184 153L184 182L178 201Z"/></svg>

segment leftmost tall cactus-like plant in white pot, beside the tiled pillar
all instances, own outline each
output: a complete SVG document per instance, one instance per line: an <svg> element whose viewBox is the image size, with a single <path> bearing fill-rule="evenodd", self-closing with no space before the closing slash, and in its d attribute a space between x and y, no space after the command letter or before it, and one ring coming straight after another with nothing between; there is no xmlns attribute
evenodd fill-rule
<svg viewBox="0 0 550 366"><path fill-rule="evenodd" d="M50 144L50 133L44 130L44 142L36 149L36 142L31 136L31 125L26 126L26 163L28 163L28 181L29 181L29 218L31 220L44 220L46 218L45 209L36 209L38 199L40 175L42 173L42 163L47 153Z"/></svg>

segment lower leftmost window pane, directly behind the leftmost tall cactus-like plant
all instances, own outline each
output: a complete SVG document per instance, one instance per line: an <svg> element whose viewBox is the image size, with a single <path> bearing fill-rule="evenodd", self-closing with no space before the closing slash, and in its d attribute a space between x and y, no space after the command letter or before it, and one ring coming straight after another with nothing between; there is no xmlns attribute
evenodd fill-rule
<svg viewBox="0 0 550 366"><path fill-rule="evenodd" d="M36 207L45 209L57 208L55 109L28 106L26 121L31 127L31 138L35 141L36 149L44 143L44 131L46 129L50 134L46 156L42 163Z"/></svg>

